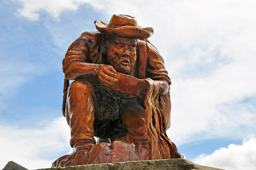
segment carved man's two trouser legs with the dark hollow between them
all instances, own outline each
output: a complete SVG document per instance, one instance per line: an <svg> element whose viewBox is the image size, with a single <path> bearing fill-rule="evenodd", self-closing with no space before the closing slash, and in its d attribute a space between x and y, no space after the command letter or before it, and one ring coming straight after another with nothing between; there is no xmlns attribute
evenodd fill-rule
<svg viewBox="0 0 256 170"><path fill-rule="evenodd" d="M102 141L148 141L145 109L136 98L123 98L127 94L104 89L87 80L70 84L65 117L71 130L71 147L82 139L96 142L94 136Z"/></svg>

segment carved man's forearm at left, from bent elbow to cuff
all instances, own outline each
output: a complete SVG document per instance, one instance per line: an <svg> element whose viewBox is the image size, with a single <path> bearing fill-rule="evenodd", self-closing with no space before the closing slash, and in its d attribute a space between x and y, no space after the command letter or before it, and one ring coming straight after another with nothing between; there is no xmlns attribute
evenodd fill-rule
<svg viewBox="0 0 256 170"><path fill-rule="evenodd" d="M98 77L99 65L73 61L65 70L65 78L68 80Z"/></svg>

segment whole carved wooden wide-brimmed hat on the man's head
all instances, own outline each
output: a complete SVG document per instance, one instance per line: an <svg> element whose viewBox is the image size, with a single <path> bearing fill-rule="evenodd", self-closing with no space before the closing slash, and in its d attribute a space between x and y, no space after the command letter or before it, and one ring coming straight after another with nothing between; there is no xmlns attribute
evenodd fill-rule
<svg viewBox="0 0 256 170"><path fill-rule="evenodd" d="M154 33L152 27L138 26L137 19L129 15L114 14L109 23L96 20L94 24L102 34L116 37L149 38Z"/></svg>

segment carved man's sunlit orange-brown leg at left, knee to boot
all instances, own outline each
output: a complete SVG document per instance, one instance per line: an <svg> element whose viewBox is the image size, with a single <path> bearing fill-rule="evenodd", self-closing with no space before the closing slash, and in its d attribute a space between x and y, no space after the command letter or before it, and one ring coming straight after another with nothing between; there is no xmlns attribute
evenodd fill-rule
<svg viewBox="0 0 256 170"><path fill-rule="evenodd" d="M94 139L94 103L93 85L89 81L73 81L67 92L66 118L71 130L70 146L73 152L90 150L96 143Z"/></svg>

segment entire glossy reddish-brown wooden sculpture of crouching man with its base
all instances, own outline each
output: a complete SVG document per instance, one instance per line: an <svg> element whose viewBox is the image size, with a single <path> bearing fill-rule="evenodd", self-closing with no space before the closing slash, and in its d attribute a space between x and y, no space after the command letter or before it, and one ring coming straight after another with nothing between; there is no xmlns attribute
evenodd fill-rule
<svg viewBox="0 0 256 170"><path fill-rule="evenodd" d="M73 153L52 167L183 158L166 135L171 81L148 41L153 29L120 14L94 23L98 31L84 32L63 60L63 114Z"/></svg>

